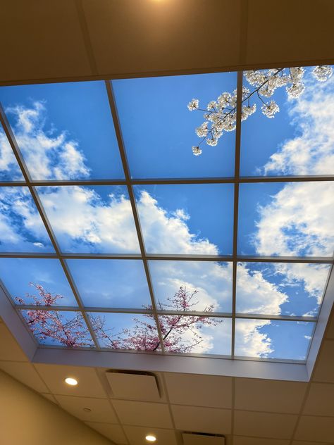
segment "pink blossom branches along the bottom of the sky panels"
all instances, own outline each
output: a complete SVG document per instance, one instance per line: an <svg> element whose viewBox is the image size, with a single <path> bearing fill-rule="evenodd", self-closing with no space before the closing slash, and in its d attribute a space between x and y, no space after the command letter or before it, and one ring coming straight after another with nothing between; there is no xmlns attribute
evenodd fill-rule
<svg viewBox="0 0 334 445"><path fill-rule="evenodd" d="M58 301L63 299L60 294L47 292L40 284L31 284L37 289L37 295L26 295L26 299L32 299L36 308L24 311L23 316L27 325L35 336L44 342L47 339L56 341L63 346L79 347L92 346L92 339L85 320L81 313L75 313L72 318L66 318L63 311L56 309ZM187 311L196 311L199 301L195 299L197 291L188 292L185 287L180 287L173 297L167 298L167 303L158 302L158 308L166 311L166 315L159 315L159 326L163 334L163 344L168 352L190 352L194 346L202 343L203 338L199 330L204 326L216 326L222 320L210 318L208 315L214 310L214 306L204 308L205 315L187 315ZM26 299L17 297L18 304L25 304ZM46 311L39 306L54 306L54 310ZM151 306L144 306L151 311ZM183 314L173 315L167 311L183 311ZM157 351L160 349L159 334L156 330L156 322L153 313L144 314L144 321L134 318L135 325L128 329L113 332L113 328L106 327L106 319L101 315L90 315L92 327L97 339L111 349L135 349L137 351ZM189 339L185 340L184 335Z"/></svg>

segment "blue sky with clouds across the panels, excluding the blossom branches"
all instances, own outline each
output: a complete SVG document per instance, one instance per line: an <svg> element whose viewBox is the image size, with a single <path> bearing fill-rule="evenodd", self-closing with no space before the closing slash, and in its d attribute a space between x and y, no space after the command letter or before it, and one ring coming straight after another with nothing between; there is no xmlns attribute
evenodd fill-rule
<svg viewBox="0 0 334 445"><path fill-rule="evenodd" d="M132 178L233 177L235 131L216 146L199 143L195 128L223 92L233 93L236 73L151 77L112 82ZM252 87L244 79L245 86ZM307 68L305 90L289 99L273 94L274 118L257 110L242 122L241 176L330 175L334 170L334 76L318 82ZM104 82L1 87L0 100L33 180L123 180L122 164ZM253 99L252 99L253 100ZM267 99L266 99L267 100ZM0 180L23 180L0 127ZM6 185L6 184L4 184ZM63 253L140 253L125 185L39 186L42 203ZM233 184L133 185L147 253L233 253ZM330 181L240 184L237 253L276 256L277 263L237 266L237 313L316 316L327 264L279 263L280 256L333 256L334 184ZM27 187L0 187L0 251L54 253ZM151 304L141 260L70 259L68 269L84 306L135 308ZM166 305L185 287L197 291L194 311L232 311L232 263L149 261L156 300ZM0 278L12 298L36 294L30 282L61 294L76 306L55 259L0 258ZM132 329L130 314L106 314L109 329ZM311 322L237 319L239 356L304 360L314 331ZM206 325L192 352L230 353L230 319ZM185 334L187 341L190 333ZM293 339L293 341L292 341Z"/></svg>

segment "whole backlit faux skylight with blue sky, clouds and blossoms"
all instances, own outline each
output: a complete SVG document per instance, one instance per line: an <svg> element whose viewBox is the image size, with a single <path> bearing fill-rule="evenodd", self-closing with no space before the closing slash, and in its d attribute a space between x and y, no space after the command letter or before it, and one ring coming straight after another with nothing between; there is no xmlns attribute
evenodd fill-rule
<svg viewBox="0 0 334 445"><path fill-rule="evenodd" d="M247 99L242 73L1 87L1 286L39 344L306 361L334 246L334 76L312 73L299 99Z"/></svg>

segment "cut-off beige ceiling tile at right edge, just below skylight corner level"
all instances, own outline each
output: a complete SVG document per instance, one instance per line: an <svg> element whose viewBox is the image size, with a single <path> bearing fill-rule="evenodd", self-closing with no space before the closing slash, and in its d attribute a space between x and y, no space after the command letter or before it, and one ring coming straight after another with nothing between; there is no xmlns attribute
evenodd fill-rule
<svg viewBox="0 0 334 445"><path fill-rule="evenodd" d="M303 414L334 416L334 384L312 383Z"/></svg>

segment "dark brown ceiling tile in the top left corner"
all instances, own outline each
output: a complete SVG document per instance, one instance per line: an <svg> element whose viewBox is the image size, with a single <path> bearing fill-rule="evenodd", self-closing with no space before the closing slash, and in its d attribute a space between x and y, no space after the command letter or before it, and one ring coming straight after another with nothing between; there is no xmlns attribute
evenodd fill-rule
<svg viewBox="0 0 334 445"><path fill-rule="evenodd" d="M0 28L8 37L0 40L0 53L6 54L1 80L92 74L75 1L8 1Z"/></svg>

